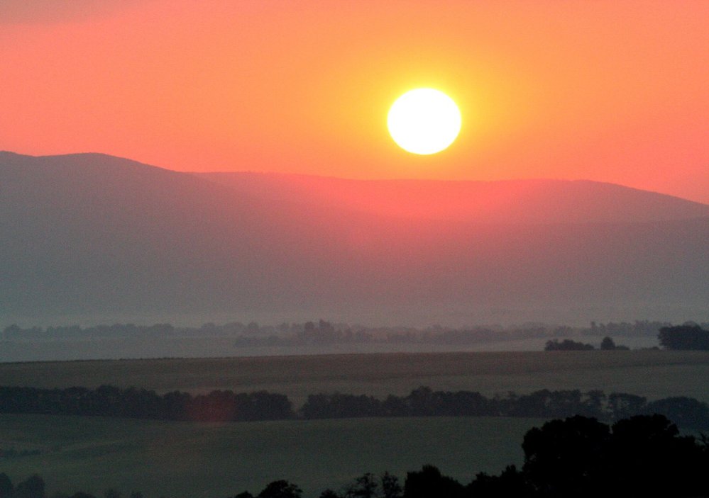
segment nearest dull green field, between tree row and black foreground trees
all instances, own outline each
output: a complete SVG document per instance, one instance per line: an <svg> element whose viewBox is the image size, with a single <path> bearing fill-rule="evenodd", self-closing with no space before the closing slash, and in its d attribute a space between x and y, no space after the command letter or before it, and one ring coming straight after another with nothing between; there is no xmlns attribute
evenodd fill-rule
<svg viewBox="0 0 709 498"><path fill-rule="evenodd" d="M364 472L404 479L432 463L469 482L522 463L522 436L538 419L422 418L189 424L0 415L0 447L39 451L0 458L13 482L38 472L55 490L101 496L226 498L285 478L316 498Z"/></svg>

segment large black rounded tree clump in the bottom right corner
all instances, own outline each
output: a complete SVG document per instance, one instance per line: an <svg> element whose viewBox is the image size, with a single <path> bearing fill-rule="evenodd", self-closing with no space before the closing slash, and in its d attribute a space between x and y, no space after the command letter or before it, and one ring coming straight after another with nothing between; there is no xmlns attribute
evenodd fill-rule
<svg viewBox="0 0 709 498"><path fill-rule="evenodd" d="M708 496L707 448L678 434L662 415L554 420L524 436L522 472L539 497Z"/></svg>

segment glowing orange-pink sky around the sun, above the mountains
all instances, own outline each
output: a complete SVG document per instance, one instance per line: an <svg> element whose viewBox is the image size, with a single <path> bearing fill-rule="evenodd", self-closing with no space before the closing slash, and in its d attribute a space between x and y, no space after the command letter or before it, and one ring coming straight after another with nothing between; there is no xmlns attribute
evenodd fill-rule
<svg viewBox="0 0 709 498"><path fill-rule="evenodd" d="M0 149L709 203L708 26L709 1L3 0ZM388 136L417 86L461 107L441 154Z"/></svg>

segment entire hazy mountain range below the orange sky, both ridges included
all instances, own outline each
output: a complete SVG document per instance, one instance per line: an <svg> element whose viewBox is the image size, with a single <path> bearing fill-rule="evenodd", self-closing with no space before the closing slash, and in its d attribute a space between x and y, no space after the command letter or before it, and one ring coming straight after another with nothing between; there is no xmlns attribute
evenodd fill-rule
<svg viewBox="0 0 709 498"><path fill-rule="evenodd" d="M0 325L709 319L709 206L603 183L195 176L1 153L0 233Z"/></svg>

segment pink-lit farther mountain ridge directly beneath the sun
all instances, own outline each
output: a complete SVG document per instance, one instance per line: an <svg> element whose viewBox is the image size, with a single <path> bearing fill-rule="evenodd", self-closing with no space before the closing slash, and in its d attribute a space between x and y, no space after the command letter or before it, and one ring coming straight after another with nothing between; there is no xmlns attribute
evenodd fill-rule
<svg viewBox="0 0 709 498"><path fill-rule="evenodd" d="M196 175L250 196L429 219L554 223L709 216L709 205L595 181L364 181L243 172Z"/></svg>

